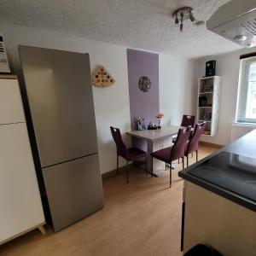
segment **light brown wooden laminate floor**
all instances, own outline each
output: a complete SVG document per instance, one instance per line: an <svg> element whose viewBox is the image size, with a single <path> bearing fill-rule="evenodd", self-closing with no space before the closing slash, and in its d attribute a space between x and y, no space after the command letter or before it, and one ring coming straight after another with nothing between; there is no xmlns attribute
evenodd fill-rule
<svg viewBox="0 0 256 256"><path fill-rule="evenodd" d="M201 146L199 158L218 148ZM190 163L195 161L189 158ZM77 224L46 235L34 230L0 247L0 255L182 255L180 248L183 181L180 165L162 177L132 170L104 180L104 208ZM0 227L1 228L1 227Z"/></svg>

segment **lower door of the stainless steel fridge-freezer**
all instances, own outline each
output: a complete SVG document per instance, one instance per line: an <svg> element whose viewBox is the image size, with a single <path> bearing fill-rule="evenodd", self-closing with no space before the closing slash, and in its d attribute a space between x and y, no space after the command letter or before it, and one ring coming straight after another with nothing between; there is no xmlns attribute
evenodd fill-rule
<svg viewBox="0 0 256 256"><path fill-rule="evenodd" d="M43 174L55 231L103 207L98 154L46 167Z"/></svg>

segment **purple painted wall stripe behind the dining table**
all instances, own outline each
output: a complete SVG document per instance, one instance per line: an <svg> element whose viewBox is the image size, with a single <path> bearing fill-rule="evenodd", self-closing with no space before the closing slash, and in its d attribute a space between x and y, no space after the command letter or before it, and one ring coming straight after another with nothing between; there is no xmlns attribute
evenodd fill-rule
<svg viewBox="0 0 256 256"><path fill-rule="evenodd" d="M158 120L155 116L160 111L159 104L159 55L136 50L127 49L130 111L131 111L131 130L137 129L137 119L145 119L146 125ZM151 81L151 88L148 92L143 92L138 87L138 80L146 76ZM138 145L145 149L145 145Z"/></svg>

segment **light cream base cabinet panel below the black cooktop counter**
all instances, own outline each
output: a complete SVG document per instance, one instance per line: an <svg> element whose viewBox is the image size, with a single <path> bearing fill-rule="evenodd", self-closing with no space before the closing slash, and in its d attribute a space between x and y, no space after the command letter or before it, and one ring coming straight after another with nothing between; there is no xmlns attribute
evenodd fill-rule
<svg viewBox="0 0 256 256"><path fill-rule="evenodd" d="M256 255L256 213L185 181L183 253L196 244L225 256Z"/></svg>

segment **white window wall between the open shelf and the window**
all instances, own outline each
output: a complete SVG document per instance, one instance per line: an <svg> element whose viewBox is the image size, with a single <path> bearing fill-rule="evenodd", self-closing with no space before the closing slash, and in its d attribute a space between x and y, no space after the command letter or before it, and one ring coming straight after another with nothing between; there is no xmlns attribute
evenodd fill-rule
<svg viewBox="0 0 256 256"><path fill-rule="evenodd" d="M236 118L236 99L239 79L240 55L253 52L256 49L241 49L229 54L207 56L195 60L195 73L198 78L205 75L206 61L216 60L216 75L221 76L221 99L218 119L218 133L215 137L203 137L203 141L227 145L230 143L231 125Z"/></svg>

